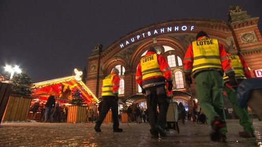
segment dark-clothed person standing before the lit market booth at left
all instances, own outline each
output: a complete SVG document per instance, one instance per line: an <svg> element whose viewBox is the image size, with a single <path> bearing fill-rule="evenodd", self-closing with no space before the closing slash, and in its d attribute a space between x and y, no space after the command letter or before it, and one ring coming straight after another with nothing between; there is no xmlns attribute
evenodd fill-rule
<svg viewBox="0 0 262 147"><path fill-rule="evenodd" d="M54 122L54 118L53 118L53 108L54 107L55 107L55 96L51 95L48 97L48 100L46 103L45 122L47 122L49 117L50 117L50 122Z"/></svg>

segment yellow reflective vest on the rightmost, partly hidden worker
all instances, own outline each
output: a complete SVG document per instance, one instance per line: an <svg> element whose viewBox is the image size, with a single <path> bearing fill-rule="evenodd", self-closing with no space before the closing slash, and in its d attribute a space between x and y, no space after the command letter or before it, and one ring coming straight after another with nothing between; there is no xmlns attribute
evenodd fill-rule
<svg viewBox="0 0 262 147"><path fill-rule="evenodd" d="M231 60L231 66L234 68L235 71L235 77L245 77L245 73L243 70L243 65L241 63L241 60L239 59L239 57L237 55L228 55L228 57ZM226 76L226 74L224 73L224 77L223 79L228 79L228 77Z"/></svg>

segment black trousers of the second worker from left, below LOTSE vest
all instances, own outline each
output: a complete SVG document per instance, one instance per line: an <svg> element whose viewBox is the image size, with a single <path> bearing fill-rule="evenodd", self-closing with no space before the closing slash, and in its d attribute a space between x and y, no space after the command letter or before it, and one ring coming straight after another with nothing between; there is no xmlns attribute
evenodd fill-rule
<svg viewBox="0 0 262 147"><path fill-rule="evenodd" d="M165 129L166 113L169 106L165 87L161 86L146 89L146 103L151 127L150 132L156 132L156 125ZM157 111L157 106L159 107L159 112Z"/></svg>

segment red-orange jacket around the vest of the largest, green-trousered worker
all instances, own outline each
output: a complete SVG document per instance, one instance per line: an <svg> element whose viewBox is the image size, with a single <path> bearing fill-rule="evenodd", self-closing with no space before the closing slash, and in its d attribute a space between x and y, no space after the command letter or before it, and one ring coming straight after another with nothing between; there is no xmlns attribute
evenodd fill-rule
<svg viewBox="0 0 262 147"><path fill-rule="evenodd" d="M199 37L198 40L202 39L202 38L203 38L203 36ZM228 74L229 72L234 73L232 66L230 65L229 61L227 60L227 53L225 51L225 48L220 43L219 43L219 50L220 50L220 59L221 59L222 70L219 69L219 68L216 68L214 70L220 71L222 75L223 75L223 70L226 74ZM185 54L185 58L184 58L184 61L183 61L184 72L187 73L187 74L191 74L191 72L192 72L193 59L194 59L193 48L192 48L192 44L190 44L187 48L187 52ZM195 70L192 73L193 77L196 73L203 71L203 70L205 70L205 69ZM210 69L206 69L206 70L210 70Z"/></svg>

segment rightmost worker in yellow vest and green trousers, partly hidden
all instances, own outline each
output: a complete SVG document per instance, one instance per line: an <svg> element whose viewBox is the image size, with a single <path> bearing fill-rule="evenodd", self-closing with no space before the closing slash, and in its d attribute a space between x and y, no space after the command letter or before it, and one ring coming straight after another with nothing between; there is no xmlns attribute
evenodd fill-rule
<svg viewBox="0 0 262 147"><path fill-rule="evenodd" d="M241 56L241 54L232 55L230 53L227 53L227 55L229 57L229 60L231 61L230 64L233 66L235 70L235 77L237 79L237 82L241 83L243 80L247 78L253 78L252 72L248 67L248 64L245 61L245 59ZM231 87L229 85L229 77L227 77L226 75L224 75L223 78L225 81L225 90L227 92L229 102L233 105L233 110L236 113L236 115L239 117L239 124L243 127L244 130L238 133L239 136L245 138L255 137L254 127L249 117L247 106L242 108L236 102L235 99L236 91L232 88L236 89L237 87Z"/></svg>

